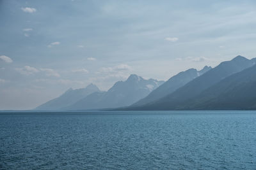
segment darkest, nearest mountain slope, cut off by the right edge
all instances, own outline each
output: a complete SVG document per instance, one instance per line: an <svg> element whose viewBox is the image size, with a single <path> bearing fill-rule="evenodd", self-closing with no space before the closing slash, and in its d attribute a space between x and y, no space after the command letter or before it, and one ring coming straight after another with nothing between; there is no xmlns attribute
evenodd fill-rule
<svg viewBox="0 0 256 170"><path fill-rule="evenodd" d="M256 66L221 80L179 110L256 110Z"/></svg>

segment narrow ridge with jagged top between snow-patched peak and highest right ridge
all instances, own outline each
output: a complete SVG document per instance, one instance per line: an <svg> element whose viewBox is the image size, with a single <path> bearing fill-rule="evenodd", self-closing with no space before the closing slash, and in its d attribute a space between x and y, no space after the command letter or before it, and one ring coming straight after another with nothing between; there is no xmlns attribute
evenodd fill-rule
<svg viewBox="0 0 256 170"><path fill-rule="evenodd" d="M168 81L164 82L163 85L159 86L156 90L153 90L147 97L141 99L140 101L132 104L132 106L140 106L143 104L151 103L152 101L156 101L161 97L164 97L168 94L171 94L175 90L179 89L180 87L186 85L189 81L201 76L202 74L206 73L212 69L212 67L205 66L200 71L196 69L188 69L186 71L182 71L175 76L172 76Z"/></svg>

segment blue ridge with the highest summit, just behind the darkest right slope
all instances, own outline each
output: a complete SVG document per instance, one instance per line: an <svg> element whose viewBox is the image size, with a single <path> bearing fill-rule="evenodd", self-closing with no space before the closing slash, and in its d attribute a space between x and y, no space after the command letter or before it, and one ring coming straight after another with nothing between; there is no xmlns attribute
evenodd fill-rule
<svg viewBox="0 0 256 170"><path fill-rule="evenodd" d="M249 60L238 55L230 61L221 62L207 73L195 78L183 87L175 90L172 94L165 96L154 103L142 106L130 106L124 110L179 110L180 106L187 101L199 96L201 92L212 85L227 78L228 76L243 71L255 64L255 59Z"/></svg>

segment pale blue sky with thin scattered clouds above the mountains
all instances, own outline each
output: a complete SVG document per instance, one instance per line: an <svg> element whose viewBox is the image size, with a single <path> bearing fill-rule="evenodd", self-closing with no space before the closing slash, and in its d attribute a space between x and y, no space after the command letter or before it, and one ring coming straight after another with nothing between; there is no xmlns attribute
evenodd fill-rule
<svg viewBox="0 0 256 170"><path fill-rule="evenodd" d="M256 57L256 1L0 0L0 110Z"/></svg>

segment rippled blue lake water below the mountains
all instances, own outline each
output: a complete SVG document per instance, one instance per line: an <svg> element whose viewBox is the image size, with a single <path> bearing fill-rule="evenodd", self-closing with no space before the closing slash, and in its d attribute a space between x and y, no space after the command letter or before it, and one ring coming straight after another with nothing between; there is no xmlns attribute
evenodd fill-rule
<svg viewBox="0 0 256 170"><path fill-rule="evenodd" d="M256 169L255 111L0 113L0 169Z"/></svg>

